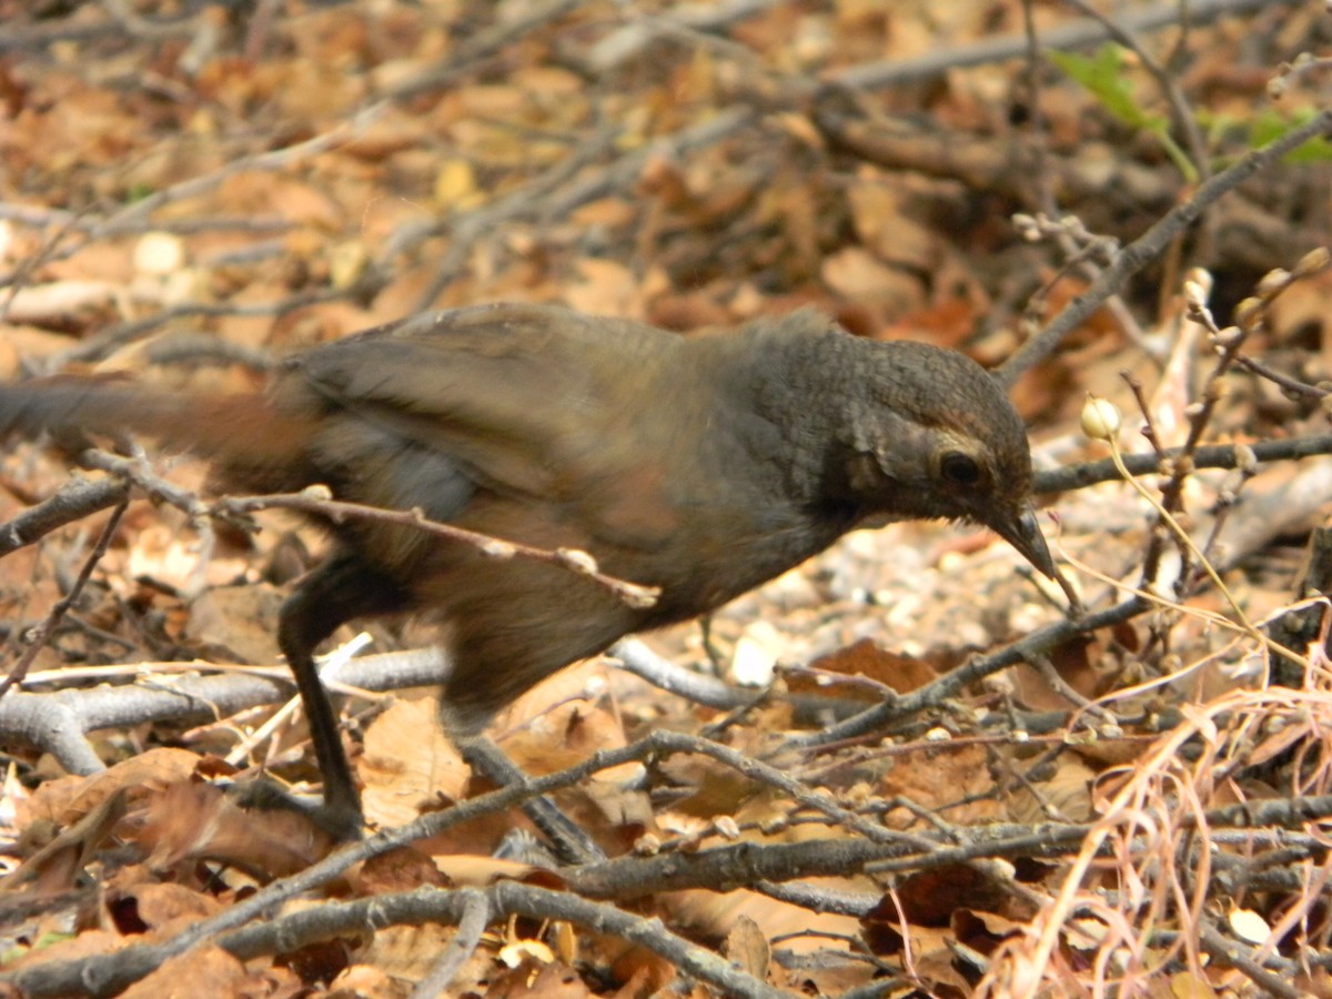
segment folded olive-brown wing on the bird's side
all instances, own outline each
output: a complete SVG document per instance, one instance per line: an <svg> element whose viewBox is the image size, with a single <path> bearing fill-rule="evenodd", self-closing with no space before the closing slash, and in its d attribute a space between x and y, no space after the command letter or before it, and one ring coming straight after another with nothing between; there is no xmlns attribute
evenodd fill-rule
<svg viewBox="0 0 1332 999"><path fill-rule="evenodd" d="M662 498L630 510L651 477L638 432L674 337L550 306L505 305L417 316L294 358L278 384L328 413L326 460L357 456L365 500L456 519L476 488L565 505L586 525L633 525L649 543L669 529ZM312 398L313 396L313 398ZM349 448L349 441L357 446ZM396 457L390 453L396 452ZM318 458L316 458L318 464ZM350 474L346 470L344 474ZM337 476L330 476L336 478ZM353 490L356 492L356 490ZM650 525L650 526L649 526Z"/></svg>

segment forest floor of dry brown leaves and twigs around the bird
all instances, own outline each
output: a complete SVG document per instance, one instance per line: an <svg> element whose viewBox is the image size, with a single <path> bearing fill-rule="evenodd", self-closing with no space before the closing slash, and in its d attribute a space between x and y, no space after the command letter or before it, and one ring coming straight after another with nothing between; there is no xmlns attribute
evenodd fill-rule
<svg viewBox="0 0 1332 999"><path fill-rule="evenodd" d="M984 531L896 523L565 670L492 735L579 864L445 738L430 630L344 629L397 832L337 852L212 783L317 790L273 634L320 533L220 519L189 458L7 442L0 992L1332 996L1321 4L0 23L0 380L253 390L493 301L682 334L814 306L1002 373L1086 607Z"/></svg>

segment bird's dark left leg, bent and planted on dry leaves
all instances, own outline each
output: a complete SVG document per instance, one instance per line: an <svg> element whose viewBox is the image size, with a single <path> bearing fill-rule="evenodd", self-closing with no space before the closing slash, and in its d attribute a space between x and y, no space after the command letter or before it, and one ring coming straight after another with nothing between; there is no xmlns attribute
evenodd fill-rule
<svg viewBox="0 0 1332 999"><path fill-rule="evenodd" d="M296 587L282 605L277 643L296 678L324 778L320 825L338 839L361 834L361 795L338 734L337 717L314 666L314 650L338 625L358 617L405 610L406 594L392 579L350 553L334 554Z"/></svg>

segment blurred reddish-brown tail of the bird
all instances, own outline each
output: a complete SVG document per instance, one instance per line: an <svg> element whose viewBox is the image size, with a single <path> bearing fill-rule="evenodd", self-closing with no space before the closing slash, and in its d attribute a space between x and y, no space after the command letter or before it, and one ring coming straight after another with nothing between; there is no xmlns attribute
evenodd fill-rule
<svg viewBox="0 0 1332 999"><path fill-rule="evenodd" d="M232 489L293 488L312 422L282 413L262 393L190 396L87 376L0 384L0 440L45 432L63 446L84 446L143 436L213 462L216 478Z"/></svg>

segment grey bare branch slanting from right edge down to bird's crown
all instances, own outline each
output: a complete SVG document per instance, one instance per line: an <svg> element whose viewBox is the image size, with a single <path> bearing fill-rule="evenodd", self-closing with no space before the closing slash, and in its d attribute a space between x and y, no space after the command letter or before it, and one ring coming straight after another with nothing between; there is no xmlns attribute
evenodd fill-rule
<svg viewBox="0 0 1332 999"><path fill-rule="evenodd" d="M1269 169L1277 160L1309 139L1328 133L1332 133L1332 109L1323 111L1300 128L1292 129L1261 149L1255 149L1199 186L1193 197L1171 209L1142 237L1124 246L1114 262L1106 268L1104 273L1083 294L1078 296L1038 336L1023 344L999 368L999 377L1003 382L1011 385L1019 374L1052 354L1064 337L1082 325L1111 294L1116 294L1131 276L1160 254L1176 236L1189 225L1193 225L1217 198L1229 193L1245 180Z"/></svg>

